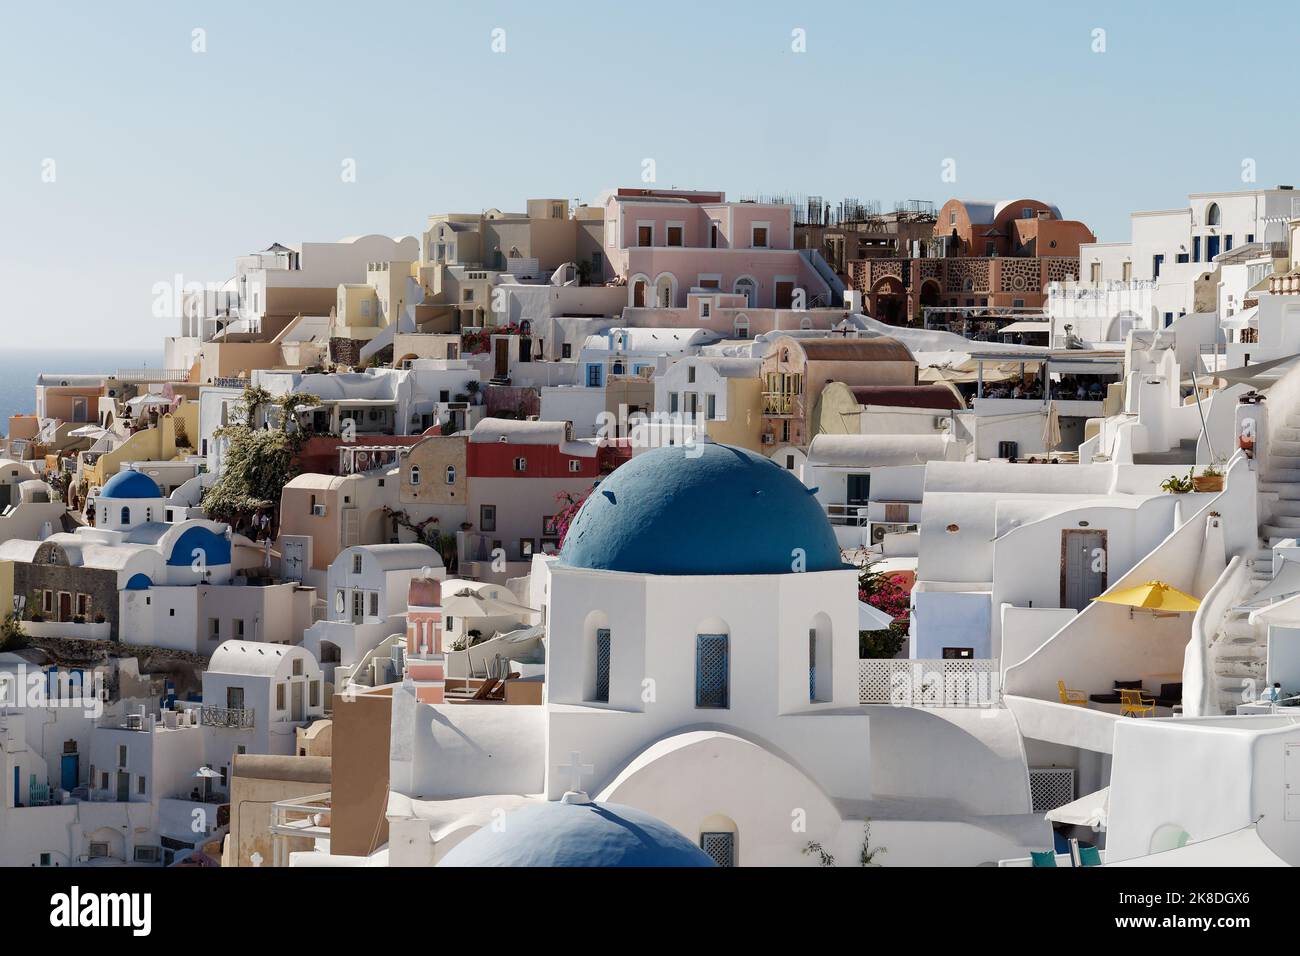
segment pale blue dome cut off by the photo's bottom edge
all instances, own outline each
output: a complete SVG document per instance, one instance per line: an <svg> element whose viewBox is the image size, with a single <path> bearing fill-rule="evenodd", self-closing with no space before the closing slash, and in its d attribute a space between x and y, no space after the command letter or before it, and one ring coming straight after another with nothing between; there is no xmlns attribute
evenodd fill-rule
<svg viewBox="0 0 1300 956"><path fill-rule="evenodd" d="M649 813L619 804L545 803L506 814L439 866L714 866L705 851Z"/></svg>

